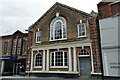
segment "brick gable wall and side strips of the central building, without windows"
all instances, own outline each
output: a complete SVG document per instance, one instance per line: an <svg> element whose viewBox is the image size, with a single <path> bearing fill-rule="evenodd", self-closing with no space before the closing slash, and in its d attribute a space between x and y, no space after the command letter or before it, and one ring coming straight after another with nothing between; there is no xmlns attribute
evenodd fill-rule
<svg viewBox="0 0 120 80"><path fill-rule="evenodd" d="M67 40L59 40L59 41L50 41L50 22L55 17L56 13L59 12L60 15L64 16L67 22ZM77 23L80 20L87 20L88 16L85 16L81 13L77 13L70 9L66 9L65 7L56 6L52 9L44 19L36 23L32 26L29 31L28 35L28 53L27 53L27 64L30 65L30 58L28 55L31 55L31 46L38 46L38 45L49 45L49 44L56 44L56 43L66 43L68 41L84 41L84 40L92 40L92 50L93 50L93 58L94 58L94 69L96 73L101 72L101 59L100 59L100 45L99 45L99 38L98 38L98 31L96 26L96 19L90 20L90 25L87 26L87 37L86 38L78 38L77 37ZM35 32L36 29L39 28L41 33L41 43L35 43ZM26 67L26 71L29 71L30 67Z"/></svg>

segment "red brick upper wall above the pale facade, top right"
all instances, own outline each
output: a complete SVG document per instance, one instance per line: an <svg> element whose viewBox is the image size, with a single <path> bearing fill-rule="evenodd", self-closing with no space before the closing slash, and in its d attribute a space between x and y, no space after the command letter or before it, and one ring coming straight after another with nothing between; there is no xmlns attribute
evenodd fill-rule
<svg viewBox="0 0 120 80"><path fill-rule="evenodd" d="M111 17L120 13L120 2L112 5L108 2L100 2L97 6L99 19Z"/></svg>

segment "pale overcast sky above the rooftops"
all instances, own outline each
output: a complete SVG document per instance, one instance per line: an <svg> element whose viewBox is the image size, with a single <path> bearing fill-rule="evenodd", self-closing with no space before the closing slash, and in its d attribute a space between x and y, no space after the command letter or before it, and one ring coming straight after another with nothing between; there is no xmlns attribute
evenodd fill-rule
<svg viewBox="0 0 120 80"><path fill-rule="evenodd" d="M25 29L56 2L90 13L101 0L0 0L0 36Z"/></svg>

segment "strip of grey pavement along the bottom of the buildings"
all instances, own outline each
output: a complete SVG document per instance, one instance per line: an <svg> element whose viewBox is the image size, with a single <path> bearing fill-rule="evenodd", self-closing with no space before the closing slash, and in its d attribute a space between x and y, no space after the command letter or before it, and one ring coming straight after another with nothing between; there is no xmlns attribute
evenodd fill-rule
<svg viewBox="0 0 120 80"><path fill-rule="evenodd" d="M0 80L120 80L120 78L98 78L98 77L35 77L35 76L0 76Z"/></svg>

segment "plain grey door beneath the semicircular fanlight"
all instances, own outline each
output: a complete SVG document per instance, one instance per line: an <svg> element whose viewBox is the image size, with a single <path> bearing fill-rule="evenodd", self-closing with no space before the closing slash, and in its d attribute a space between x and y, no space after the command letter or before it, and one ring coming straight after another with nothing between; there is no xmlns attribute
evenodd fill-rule
<svg viewBox="0 0 120 80"><path fill-rule="evenodd" d="M91 67L90 67L89 57L79 58L79 70L80 70L80 76L90 76Z"/></svg>

